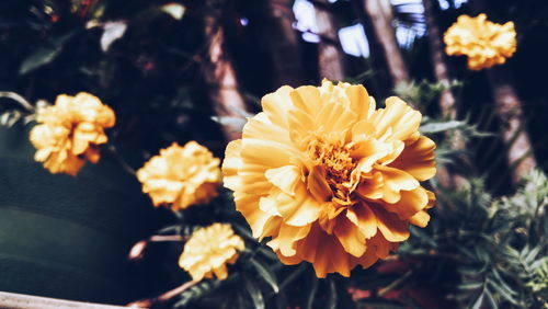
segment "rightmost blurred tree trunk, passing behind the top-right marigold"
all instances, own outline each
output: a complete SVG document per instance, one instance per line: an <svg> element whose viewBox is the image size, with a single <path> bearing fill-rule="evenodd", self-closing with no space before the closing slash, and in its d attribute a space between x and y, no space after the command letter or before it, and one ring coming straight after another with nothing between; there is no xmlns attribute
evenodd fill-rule
<svg viewBox="0 0 548 309"><path fill-rule="evenodd" d="M470 1L470 8L475 14L488 11L481 0ZM512 182L516 184L537 165L523 119L523 103L505 66L487 69L487 76L493 93L494 111L501 122L502 139L507 148L506 158L509 168L512 169Z"/></svg>

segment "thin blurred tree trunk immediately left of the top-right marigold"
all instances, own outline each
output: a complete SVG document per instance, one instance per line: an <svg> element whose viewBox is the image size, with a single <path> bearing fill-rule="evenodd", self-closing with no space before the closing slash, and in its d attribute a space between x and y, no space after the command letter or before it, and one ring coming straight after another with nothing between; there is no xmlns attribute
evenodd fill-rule
<svg viewBox="0 0 548 309"><path fill-rule="evenodd" d="M457 111L455 107L455 96L449 89L449 69L447 62L445 61L444 45L442 44L442 34L436 22L436 9L433 2L434 0L423 0L424 4L424 18L426 21L427 28L427 39L430 46L430 55L432 59L432 66L434 69L434 76L436 80L442 83L447 89L439 94L439 110L444 117L454 119L457 116Z"/></svg>

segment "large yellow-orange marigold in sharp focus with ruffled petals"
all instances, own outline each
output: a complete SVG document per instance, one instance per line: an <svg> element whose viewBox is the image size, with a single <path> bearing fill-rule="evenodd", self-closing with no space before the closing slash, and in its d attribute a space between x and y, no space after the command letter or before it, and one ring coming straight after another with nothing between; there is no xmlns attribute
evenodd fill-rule
<svg viewBox="0 0 548 309"><path fill-rule="evenodd" d="M375 111L362 85L282 87L262 99L242 139L228 145L225 186L253 236L286 264L316 274L367 267L426 226L435 144L418 131L421 113L398 98Z"/></svg>

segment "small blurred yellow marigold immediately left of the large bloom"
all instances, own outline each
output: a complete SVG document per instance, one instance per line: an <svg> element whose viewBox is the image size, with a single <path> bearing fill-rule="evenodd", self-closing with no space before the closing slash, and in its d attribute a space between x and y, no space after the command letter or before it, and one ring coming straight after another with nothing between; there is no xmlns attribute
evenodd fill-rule
<svg viewBox="0 0 548 309"><path fill-rule="evenodd" d="M219 163L219 159L196 141L189 141L184 147L173 142L150 158L137 171L137 178L155 206L170 204L173 210L179 210L208 203L217 196L221 181Z"/></svg>

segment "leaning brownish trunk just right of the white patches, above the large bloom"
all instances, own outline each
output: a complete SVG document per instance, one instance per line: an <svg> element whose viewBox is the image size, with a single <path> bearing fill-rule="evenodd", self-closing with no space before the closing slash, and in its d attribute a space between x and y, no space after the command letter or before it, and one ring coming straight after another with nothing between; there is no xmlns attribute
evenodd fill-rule
<svg viewBox="0 0 548 309"><path fill-rule="evenodd" d="M386 2L387 0L362 1L365 19L370 22L370 27L367 22L364 22L367 39L370 42L379 42L383 58L386 60L392 85L395 87L402 82L410 82L411 79L391 24L391 16L387 12L387 8L385 8L386 4L389 5L390 3ZM374 48L370 49L373 50Z"/></svg>

